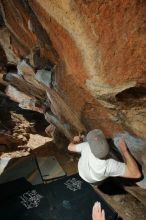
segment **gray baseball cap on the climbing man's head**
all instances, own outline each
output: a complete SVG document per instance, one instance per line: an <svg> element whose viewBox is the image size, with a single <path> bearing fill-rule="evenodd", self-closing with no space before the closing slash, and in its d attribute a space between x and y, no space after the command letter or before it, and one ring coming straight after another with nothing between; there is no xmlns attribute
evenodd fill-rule
<svg viewBox="0 0 146 220"><path fill-rule="evenodd" d="M107 140L100 129L94 129L87 134L86 137L91 152L95 157L101 159L105 158L109 153L109 145Z"/></svg>

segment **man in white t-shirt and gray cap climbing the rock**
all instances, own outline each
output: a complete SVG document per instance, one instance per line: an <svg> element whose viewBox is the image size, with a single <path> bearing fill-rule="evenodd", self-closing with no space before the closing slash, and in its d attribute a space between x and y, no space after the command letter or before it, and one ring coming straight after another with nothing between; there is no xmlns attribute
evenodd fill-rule
<svg viewBox="0 0 146 220"><path fill-rule="evenodd" d="M78 152L81 157L78 162L79 175L88 183L100 182L110 176L125 178L140 178L141 172L129 152L124 139L119 140L119 148L124 162L109 157L109 145L99 138L102 131L95 129L87 134L86 141L81 143L81 137L75 136L68 145L68 150Z"/></svg>

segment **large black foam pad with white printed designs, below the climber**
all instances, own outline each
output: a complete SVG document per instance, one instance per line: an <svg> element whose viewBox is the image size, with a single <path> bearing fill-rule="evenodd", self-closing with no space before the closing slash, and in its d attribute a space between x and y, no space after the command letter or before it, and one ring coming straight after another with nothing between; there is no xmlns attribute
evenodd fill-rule
<svg viewBox="0 0 146 220"><path fill-rule="evenodd" d="M106 220L117 218L111 206L76 174L9 198L0 207L0 219L91 220L96 201L101 202Z"/></svg>

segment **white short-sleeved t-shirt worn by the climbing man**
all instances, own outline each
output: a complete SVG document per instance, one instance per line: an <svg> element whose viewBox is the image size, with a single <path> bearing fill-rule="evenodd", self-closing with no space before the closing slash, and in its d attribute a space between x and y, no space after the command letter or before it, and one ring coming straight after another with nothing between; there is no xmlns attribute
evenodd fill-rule
<svg viewBox="0 0 146 220"><path fill-rule="evenodd" d="M88 142L76 144L76 152L81 153L78 162L79 175L89 183L95 183L109 176L123 176L125 163L114 159L101 160L96 158Z"/></svg>

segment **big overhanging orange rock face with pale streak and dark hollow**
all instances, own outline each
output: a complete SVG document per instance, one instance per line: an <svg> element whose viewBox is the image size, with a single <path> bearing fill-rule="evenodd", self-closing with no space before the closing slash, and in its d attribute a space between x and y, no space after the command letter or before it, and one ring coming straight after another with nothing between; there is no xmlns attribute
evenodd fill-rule
<svg viewBox="0 0 146 220"><path fill-rule="evenodd" d="M29 4L61 59L57 91L85 128L100 127L108 136L129 130L146 138L145 94L137 98L141 87L146 91L145 2Z"/></svg>

